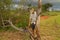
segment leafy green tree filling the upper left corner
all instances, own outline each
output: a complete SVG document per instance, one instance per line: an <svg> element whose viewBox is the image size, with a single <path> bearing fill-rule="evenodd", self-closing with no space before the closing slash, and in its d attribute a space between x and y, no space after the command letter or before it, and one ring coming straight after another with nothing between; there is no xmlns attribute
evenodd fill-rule
<svg viewBox="0 0 60 40"><path fill-rule="evenodd" d="M8 13L10 11L10 4L11 4L12 0L0 0L0 18L1 18L1 22L4 26L4 17L7 16L6 13Z"/></svg>

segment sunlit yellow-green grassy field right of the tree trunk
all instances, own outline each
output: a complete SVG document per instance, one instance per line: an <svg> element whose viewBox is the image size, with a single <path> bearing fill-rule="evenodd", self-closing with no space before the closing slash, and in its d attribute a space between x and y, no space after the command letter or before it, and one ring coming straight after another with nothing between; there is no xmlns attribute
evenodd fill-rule
<svg viewBox="0 0 60 40"><path fill-rule="evenodd" d="M51 13L47 19L41 19L40 34L42 40L60 40L60 12ZM54 14L55 13L55 14ZM54 14L54 16L52 16Z"/></svg>

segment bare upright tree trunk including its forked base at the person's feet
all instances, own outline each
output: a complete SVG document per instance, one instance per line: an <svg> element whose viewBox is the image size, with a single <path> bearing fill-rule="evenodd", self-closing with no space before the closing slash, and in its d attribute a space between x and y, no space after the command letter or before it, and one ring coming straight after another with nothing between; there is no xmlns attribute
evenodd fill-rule
<svg viewBox="0 0 60 40"><path fill-rule="evenodd" d="M29 33L30 33L30 37L31 37L31 40L41 40L41 37L40 37L40 14L42 12L42 4L41 4L41 0L38 0L38 9L37 9L37 14L38 14L38 17L37 17L37 22L36 22L36 28L34 29L34 34L32 33L31 30L29 30ZM30 28L28 28L30 29ZM35 36L37 36L35 38Z"/></svg>

